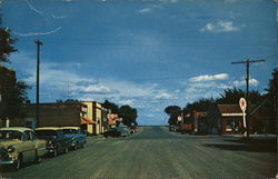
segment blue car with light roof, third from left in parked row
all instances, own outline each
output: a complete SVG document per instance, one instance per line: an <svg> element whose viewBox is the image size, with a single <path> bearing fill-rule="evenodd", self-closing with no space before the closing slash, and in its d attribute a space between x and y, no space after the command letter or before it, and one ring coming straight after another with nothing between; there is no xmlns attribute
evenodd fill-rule
<svg viewBox="0 0 278 179"><path fill-rule="evenodd" d="M87 136L82 133L79 127L62 127L61 128L66 137L70 139L71 149L83 148Z"/></svg>

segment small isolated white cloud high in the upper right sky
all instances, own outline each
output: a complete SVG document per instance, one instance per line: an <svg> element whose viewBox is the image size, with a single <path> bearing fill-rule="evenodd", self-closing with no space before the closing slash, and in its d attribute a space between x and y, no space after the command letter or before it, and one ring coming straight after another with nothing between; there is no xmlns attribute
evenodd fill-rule
<svg viewBox="0 0 278 179"><path fill-rule="evenodd" d="M227 20L219 20L217 23L207 23L202 29L201 32L231 32L231 31L239 31L240 28L236 27L232 21Z"/></svg>

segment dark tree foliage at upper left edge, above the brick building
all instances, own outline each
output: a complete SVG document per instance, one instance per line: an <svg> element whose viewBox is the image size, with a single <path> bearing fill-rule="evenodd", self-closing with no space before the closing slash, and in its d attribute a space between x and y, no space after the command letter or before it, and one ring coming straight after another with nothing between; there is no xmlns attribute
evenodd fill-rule
<svg viewBox="0 0 278 179"><path fill-rule="evenodd" d="M0 18L0 24L2 20ZM16 38L11 38L11 30L0 27L0 62L10 62L9 56L18 51L13 44L17 42Z"/></svg>

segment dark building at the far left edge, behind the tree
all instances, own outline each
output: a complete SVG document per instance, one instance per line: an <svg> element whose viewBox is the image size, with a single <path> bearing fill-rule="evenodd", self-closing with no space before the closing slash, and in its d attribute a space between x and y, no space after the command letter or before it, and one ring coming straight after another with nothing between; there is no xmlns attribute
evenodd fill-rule
<svg viewBox="0 0 278 179"><path fill-rule="evenodd" d="M16 84L16 71L0 66L0 127L6 126L6 113L10 109Z"/></svg>

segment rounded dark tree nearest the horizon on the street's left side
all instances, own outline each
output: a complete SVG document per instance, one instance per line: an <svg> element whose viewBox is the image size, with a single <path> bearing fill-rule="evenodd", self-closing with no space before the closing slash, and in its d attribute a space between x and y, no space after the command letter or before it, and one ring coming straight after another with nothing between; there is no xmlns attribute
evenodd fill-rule
<svg viewBox="0 0 278 179"><path fill-rule="evenodd" d="M131 126L131 123L137 123L137 110L131 108L130 106L122 106L119 109L119 117L122 118L122 122L126 126Z"/></svg>

